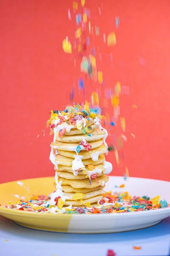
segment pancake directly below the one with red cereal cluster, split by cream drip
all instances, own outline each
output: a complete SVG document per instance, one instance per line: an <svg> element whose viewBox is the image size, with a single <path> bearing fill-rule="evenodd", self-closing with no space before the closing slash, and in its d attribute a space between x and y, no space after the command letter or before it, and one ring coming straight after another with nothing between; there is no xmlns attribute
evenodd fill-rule
<svg viewBox="0 0 170 256"><path fill-rule="evenodd" d="M107 151L105 145L100 145L98 148L91 149L91 153L89 151L81 151L79 154L82 156L82 159L92 158L95 161L100 154L104 154ZM73 151L63 151L58 150L58 153L65 157L74 158L75 152Z"/></svg>

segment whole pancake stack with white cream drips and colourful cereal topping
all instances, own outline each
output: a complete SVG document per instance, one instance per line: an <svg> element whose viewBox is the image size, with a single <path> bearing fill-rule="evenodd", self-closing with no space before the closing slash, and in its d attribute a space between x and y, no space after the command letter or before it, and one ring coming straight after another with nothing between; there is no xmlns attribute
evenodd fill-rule
<svg viewBox="0 0 170 256"><path fill-rule="evenodd" d="M89 105L85 102L84 106L51 111L47 121L54 134L50 160L56 171L56 190L51 194L50 205L97 204L105 193L107 174L112 171L112 164L104 155L108 154L108 132L101 125L101 109Z"/></svg>

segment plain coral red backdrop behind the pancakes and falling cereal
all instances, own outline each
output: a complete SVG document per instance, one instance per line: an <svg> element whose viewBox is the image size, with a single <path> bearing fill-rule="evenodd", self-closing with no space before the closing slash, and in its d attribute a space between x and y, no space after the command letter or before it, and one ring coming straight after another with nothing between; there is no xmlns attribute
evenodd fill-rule
<svg viewBox="0 0 170 256"><path fill-rule="evenodd" d="M74 81L74 102L81 100L77 81L79 76L85 79L79 60L74 67L73 56L62 50L63 39L68 36L72 43L76 30L72 4L72 0L1 3L0 182L54 175L49 161L52 138L45 123L51 109L62 109L68 103ZM112 175L122 175L127 166L130 176L170 180L169 1L86 0L85 7L91 10L92 26L99 26L95 44L99 45L102 61L98 55L96 60L107 78L106 86L114 87L119 81L130 90L120 99L120 116L126 119L125 163L117 166L110 152L107 159L113 161ZM116 16L120 20L118 29ZM111 31L116 32L117 39L113 63L111 49L102 40L103 33ZM139 58L144 58L146 66ZM99 84L85 81L87 99L96 88ZM112 107L109 111L113 115ZM123 132L118 125L111 127L110 133ZM108 141L112 143L112 137Z"/></svg>

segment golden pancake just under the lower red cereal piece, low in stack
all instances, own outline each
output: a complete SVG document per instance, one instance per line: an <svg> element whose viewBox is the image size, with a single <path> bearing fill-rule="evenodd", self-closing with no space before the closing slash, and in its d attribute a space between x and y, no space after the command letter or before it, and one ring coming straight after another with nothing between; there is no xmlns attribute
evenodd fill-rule
<svg viewBox="0 0 170 256"><path fill-rule="evenodd" d="M75 189L81 189L81 188L95 188L98 186L102 186L103 182L107 182L109 180L109 177L107 175L102 175L94 180L85 179L85 180L66 180L65 178L59 177L58 181L62 181L62 185L71 185ZM105 184L104 183L104 184Z"/></svg>

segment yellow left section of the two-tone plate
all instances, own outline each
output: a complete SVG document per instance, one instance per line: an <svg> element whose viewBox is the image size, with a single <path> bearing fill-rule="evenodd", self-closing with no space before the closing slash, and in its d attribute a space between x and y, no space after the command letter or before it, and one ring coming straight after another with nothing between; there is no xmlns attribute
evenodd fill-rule
<svg viewBox="0 0 170 256"><path fill-rule="evenodd" d="M16 202L20 197L30 198L31 195L46 195L54 191L54 177L35 178L0 184L0 215L15 221L17 224L37 230L68 232L72 214L51 214L47 212L26 212L4 208L9 201Z"/></svg>

